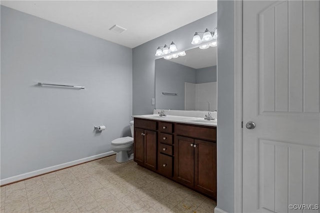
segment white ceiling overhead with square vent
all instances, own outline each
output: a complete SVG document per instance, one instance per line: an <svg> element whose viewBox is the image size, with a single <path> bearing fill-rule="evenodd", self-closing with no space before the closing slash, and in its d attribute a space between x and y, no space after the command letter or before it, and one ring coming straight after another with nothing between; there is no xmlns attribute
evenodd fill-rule
<svg viewBox="0 0 320 213"><path fill-rule="evenodd" d="M216 11L216 0L1 0L4 6L136 47ZM126 28L118 34L109 30Z"/></svg>

